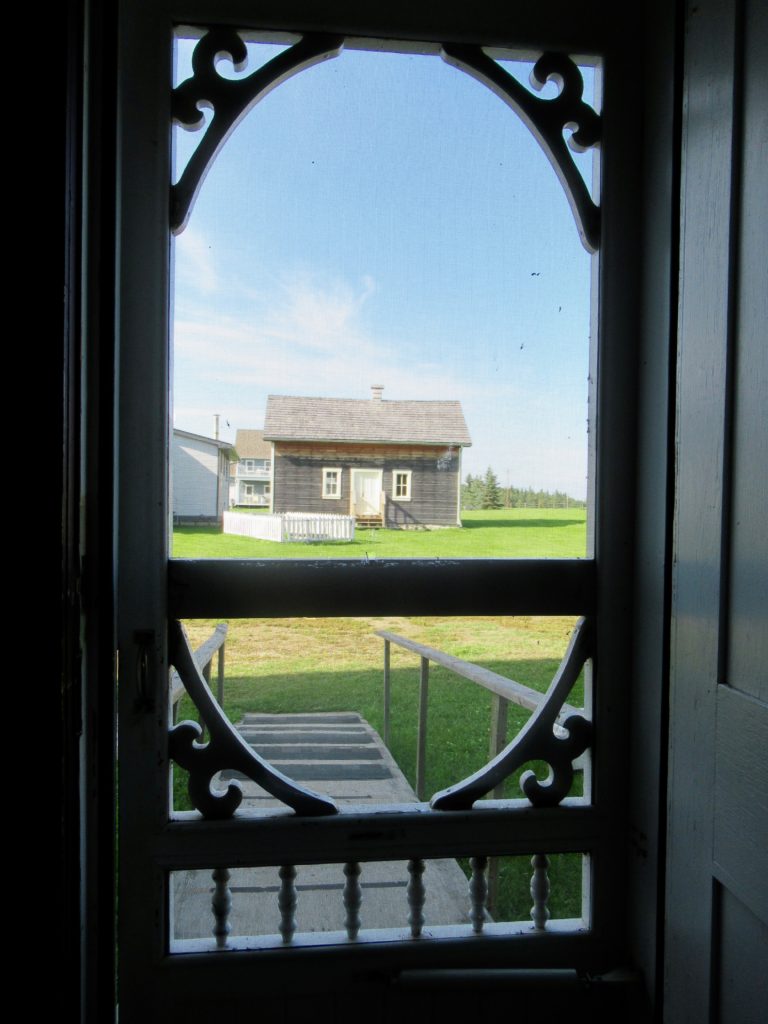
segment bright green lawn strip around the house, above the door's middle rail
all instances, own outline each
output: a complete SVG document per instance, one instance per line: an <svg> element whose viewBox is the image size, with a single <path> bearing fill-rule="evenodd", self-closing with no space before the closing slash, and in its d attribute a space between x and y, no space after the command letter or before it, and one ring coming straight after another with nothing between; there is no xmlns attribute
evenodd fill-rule
<svg viewBox="0 0 768 1024"><path fill-rule="evenodd" d="M173 531L175 558L584 558L584 509L463 512L445 529L358 529L354 541L275 544L221 534L215 526Z"/></svg>

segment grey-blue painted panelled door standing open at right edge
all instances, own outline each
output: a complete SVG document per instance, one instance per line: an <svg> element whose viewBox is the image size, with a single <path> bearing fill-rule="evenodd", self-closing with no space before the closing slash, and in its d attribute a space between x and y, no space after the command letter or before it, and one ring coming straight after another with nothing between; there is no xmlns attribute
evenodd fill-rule
<svg viewBox="0 0 768 1024"><path fill-rule="evenodd" d="M665 1007L675 1022L757 1019L768 970L767 27L758 0L710 0L686 26Z"/></svg>

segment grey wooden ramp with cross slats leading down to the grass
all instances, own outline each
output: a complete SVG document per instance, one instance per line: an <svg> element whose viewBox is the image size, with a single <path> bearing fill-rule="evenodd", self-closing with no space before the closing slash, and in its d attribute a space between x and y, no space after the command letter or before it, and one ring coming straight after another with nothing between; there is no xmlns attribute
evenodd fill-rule
<svg viewBox="0 0 768 1024"><path fill-rule="evenodd" d="M245 715L238 724L244 738L282 772L327 794L341 806L373 803L415 803L416 795L378 732L351 712L304 715ZM246 810L281 807L269 794L237 772ZM408 926L406 861L364 864L360 874L362 929ZM469 921L467 879L455 860L433 860L424 873L424 908L430 925ZM278 867L232 870L230 937L272 935L279 931ZM344 929L342 864L300 865L297 868L298 933L341 932ZM173 936L211 936L213 883L208 870L180 871L173 882Z"/></svg>

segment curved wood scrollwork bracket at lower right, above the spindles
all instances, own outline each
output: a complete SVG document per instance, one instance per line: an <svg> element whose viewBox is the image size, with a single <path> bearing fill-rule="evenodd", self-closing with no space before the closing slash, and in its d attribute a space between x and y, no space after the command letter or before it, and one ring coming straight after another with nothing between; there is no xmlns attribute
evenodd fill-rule
<svg viewBox="0 0 768 1024"><path fill-rule="evenodd" d="M555 735L557 716L591 653L591 627L580 618L560 666L544 700L515 738L484 768L456 785L436 793L431 806L440 811L469 810L476 800L490 793L512 772L529 761L545 761L551 776L540 782L532 771L520 776L520 788L535 807L553 807L566 797L573 781L573 761L587 750L592 724L582 715L569 715L562 723L567 735Z"/></svg>

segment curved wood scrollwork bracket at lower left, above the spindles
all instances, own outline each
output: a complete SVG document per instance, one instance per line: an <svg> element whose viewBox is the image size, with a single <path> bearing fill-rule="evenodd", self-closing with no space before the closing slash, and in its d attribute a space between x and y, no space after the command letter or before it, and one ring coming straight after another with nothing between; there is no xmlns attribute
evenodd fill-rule
<svg viewBox="0 0 768 1024"><path fill-rule="evenodd" d="M229 818L243 800L237 781L229 781L222 793L211 791L213 776L224 768L242 772L276 800L292 807L297 814L336 814L338 808L330 797L298 785L278 771L249 746L219 707L195 664L184 629L179 622L169 623L171 664L179 674L187 693L208 727L210 740L200 742L203 730L197 722L180 722L170 731L171 757L189 772L189 798L206 818Z"/></svg>

